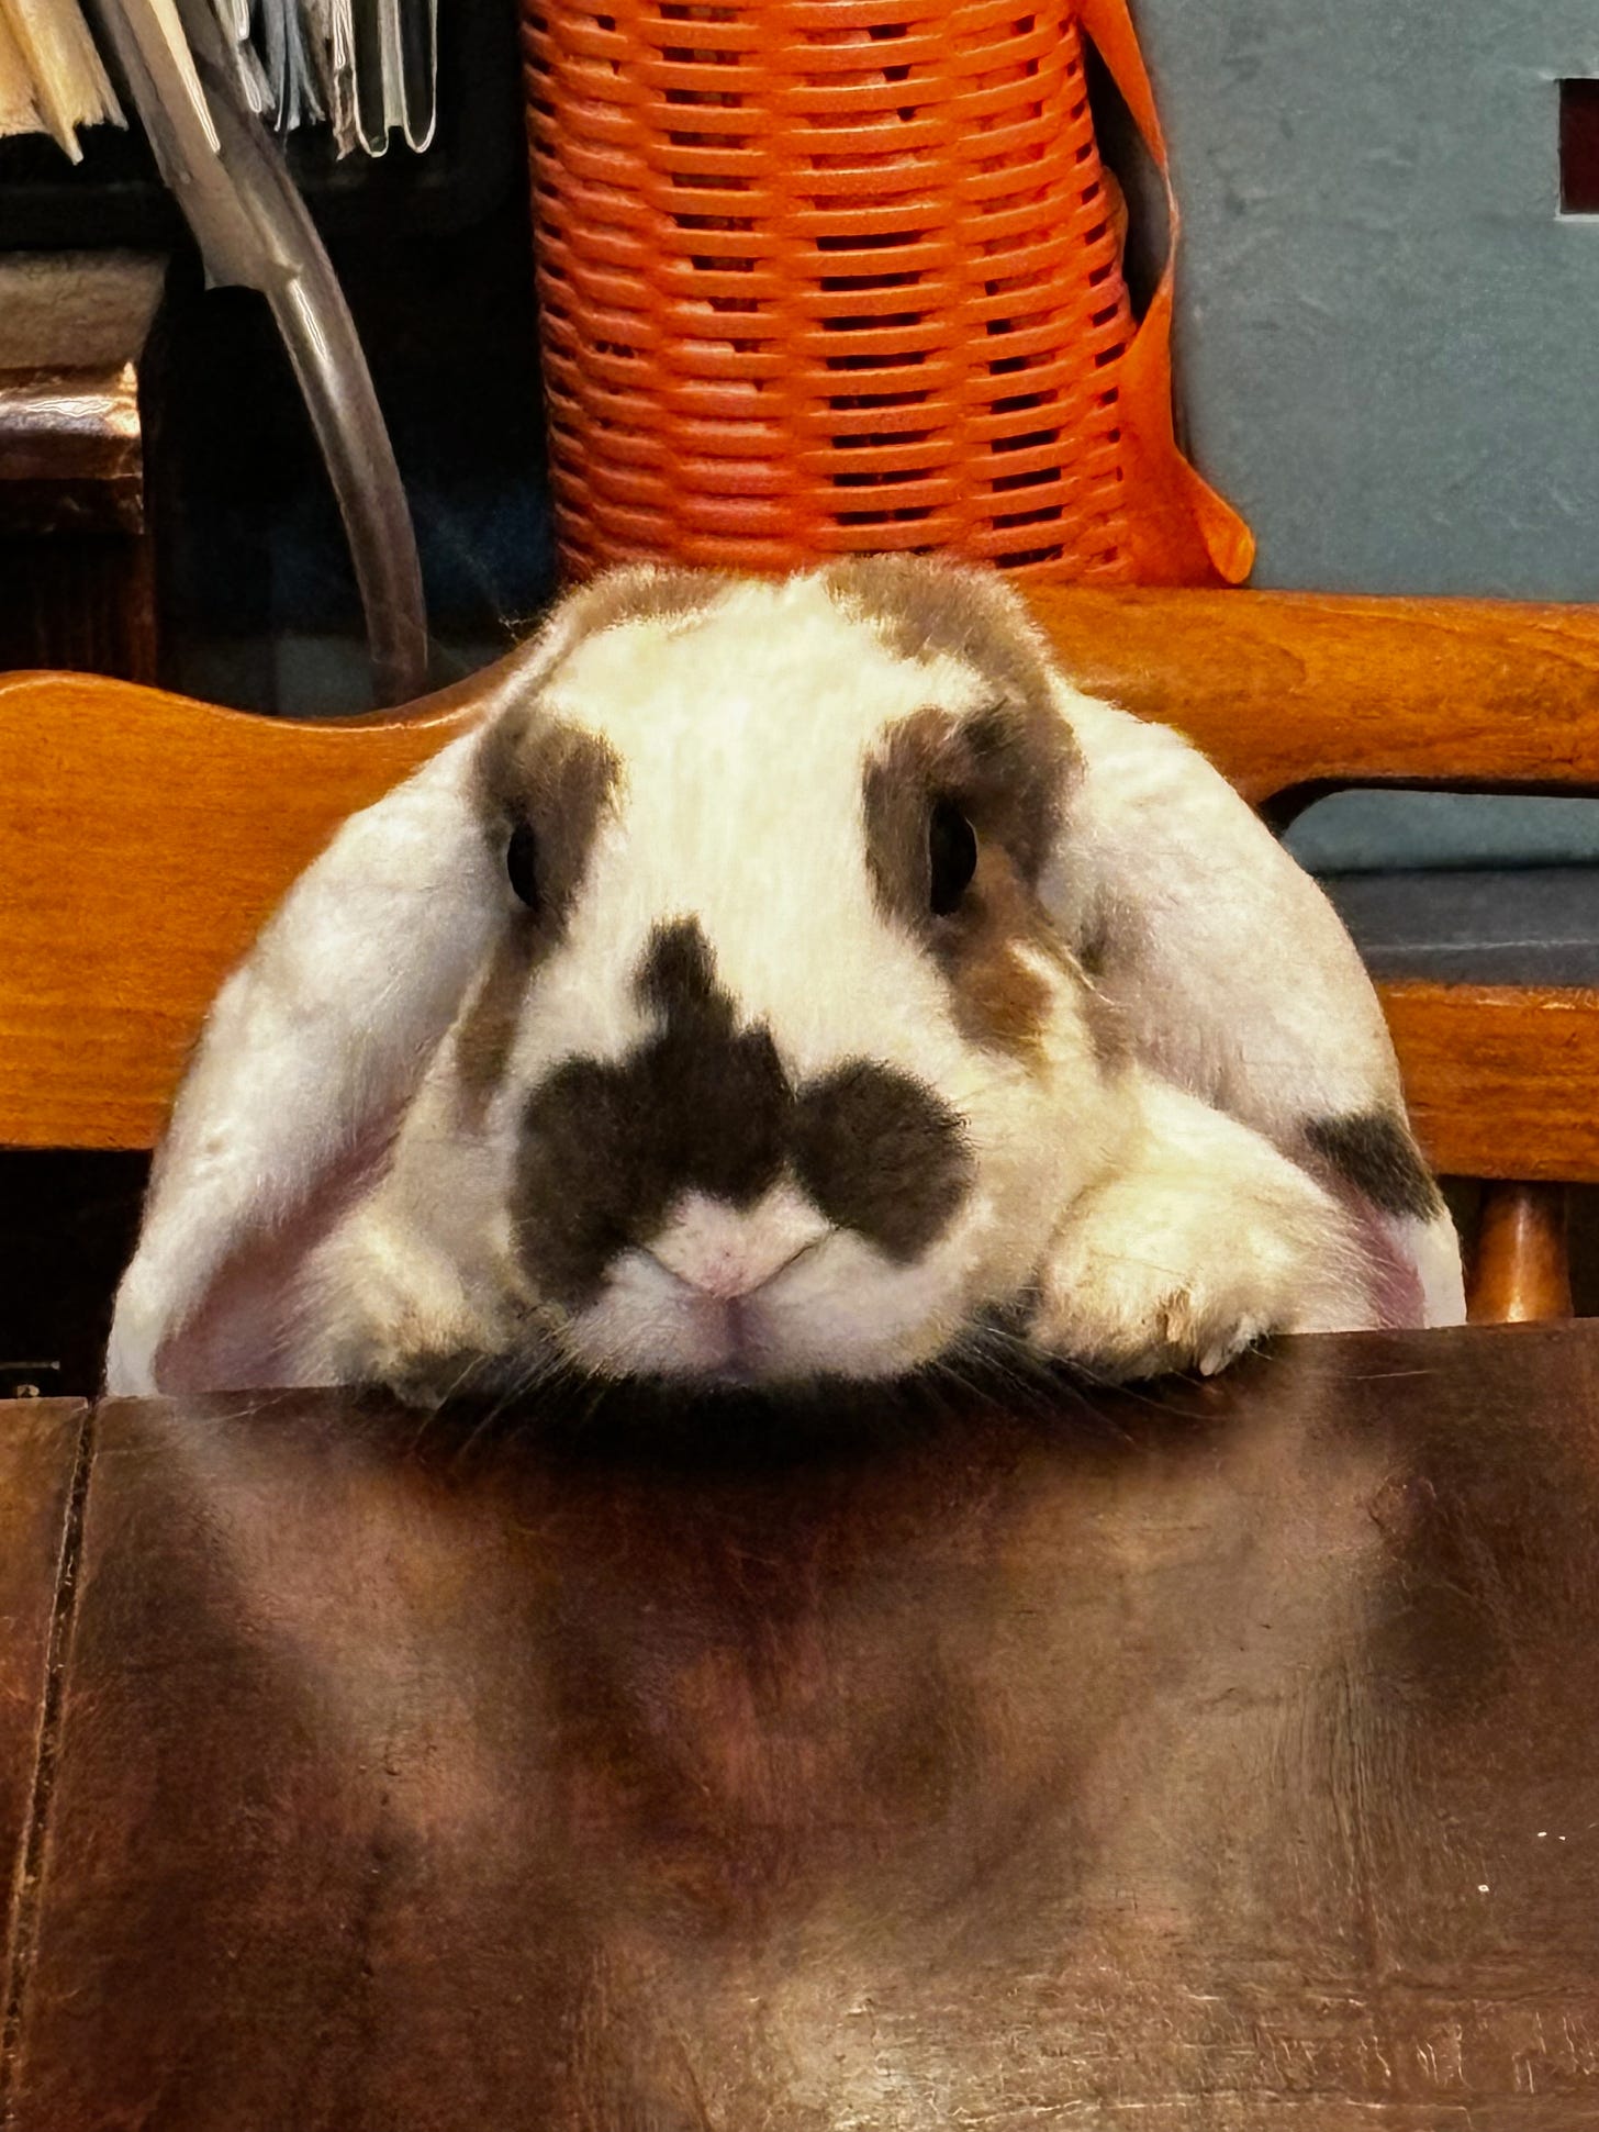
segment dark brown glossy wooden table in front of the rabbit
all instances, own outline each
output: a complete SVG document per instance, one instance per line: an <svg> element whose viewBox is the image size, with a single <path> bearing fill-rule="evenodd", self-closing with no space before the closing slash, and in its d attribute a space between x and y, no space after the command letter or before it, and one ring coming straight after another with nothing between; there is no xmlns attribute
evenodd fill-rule
<svg viewBox="0 0 1599 2132"><path fill-rule="evenodd" d="M1599 1324L0 1416L19 2132L1599 2126Z"/></svg>

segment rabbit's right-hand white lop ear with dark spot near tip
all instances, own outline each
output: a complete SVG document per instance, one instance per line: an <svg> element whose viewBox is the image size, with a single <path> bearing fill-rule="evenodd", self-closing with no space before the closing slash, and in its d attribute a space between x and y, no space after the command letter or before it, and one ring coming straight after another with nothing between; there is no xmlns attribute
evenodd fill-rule
<svg viewBox="0 0 1599 2132"><path fill-rule="evenodd" d="M1356 1213L1384 1322L1465 1315L1371 979L1322 889L1185 740L1057 682L1083 780L1045 893L1126 1047Z"/></svg>

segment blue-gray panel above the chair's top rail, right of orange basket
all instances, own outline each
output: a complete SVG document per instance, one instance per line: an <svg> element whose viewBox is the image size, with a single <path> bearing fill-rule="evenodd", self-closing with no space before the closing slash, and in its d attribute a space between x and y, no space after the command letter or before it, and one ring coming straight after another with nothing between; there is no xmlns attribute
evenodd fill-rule
<svg viewBox="0 0 1599 2132"><path fill-rule="evenodd" d="M1258 584L1599 597L1595 0L1136 0L1183 207L1183 403Z"/></svg>

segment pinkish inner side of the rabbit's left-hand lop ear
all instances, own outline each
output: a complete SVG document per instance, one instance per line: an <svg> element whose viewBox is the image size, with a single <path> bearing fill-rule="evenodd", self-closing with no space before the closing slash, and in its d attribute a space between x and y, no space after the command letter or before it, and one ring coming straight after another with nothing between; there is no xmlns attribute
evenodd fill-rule
<svg viewBox="0 0 1599 2132"><path fill-rule="evenodd" d="M156 1352L162 1392L260 1392L307 1384L298 1345L298 1283L335 1224L382 1177L399 1113L375 1119L305 1198L271 1228L245 1232L203 1296Z"/></svg>

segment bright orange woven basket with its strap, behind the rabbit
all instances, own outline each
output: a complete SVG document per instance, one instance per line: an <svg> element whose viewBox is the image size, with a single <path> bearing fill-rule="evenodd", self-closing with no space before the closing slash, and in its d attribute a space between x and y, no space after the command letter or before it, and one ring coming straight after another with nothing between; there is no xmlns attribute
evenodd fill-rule
<svg viewBox="0 0 1599 2132"><path fill-rule="evenodd" d="M1168 277L1128 307L1085 26L1164 168L1121 0L527 0L569 576L1247 571L1173 443Z"/></svg>

